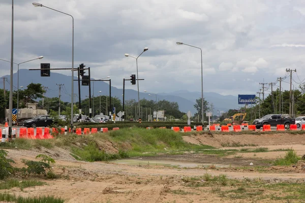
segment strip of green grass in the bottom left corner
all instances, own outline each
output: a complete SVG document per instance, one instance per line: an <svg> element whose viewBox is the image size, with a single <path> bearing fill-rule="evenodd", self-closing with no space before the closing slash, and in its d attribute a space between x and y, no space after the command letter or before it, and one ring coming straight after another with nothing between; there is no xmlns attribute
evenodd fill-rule
<svg viewBox="0 0 305 203"><path fill-rule="evenodd" d="M64 203L64 199L54 196L42 195L39 197L22 197L9 193L0 193L0 201L16 203Z"/></svg>

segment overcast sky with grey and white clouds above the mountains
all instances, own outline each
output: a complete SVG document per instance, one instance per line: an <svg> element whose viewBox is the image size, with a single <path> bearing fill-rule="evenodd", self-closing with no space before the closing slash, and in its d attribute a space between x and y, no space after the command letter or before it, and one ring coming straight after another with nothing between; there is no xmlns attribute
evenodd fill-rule
<svg viewBox="0 0 305 203"><path fill-rule="evenodd" d="M21 69L71 67L72 19L34 0L15 0L14 62L43 55ZM35 0L38 1L38 0ZM92 68L95 79L136 74L140 91L201 91L255 94L259 83L276 82L286 69L296 69L294 86L305 78L305 1L295 0L42 0L39 3L74 17L75 64ZM11 1L0 0L0 58L10 60ZM10 64L0 62L0 76ZM60 73L68 75L69 72ZM29 76L31 77L31 76ZM289 77L286 78L289 82ZM279 83L277 83L278 85ZM285 83L284 83L285 84ZM268 86L268 85L266 85ZM128 85L136 89L137 86ZM284 86L288 89L288 86ZM270 89L269 89L270 90Z"/></svg>

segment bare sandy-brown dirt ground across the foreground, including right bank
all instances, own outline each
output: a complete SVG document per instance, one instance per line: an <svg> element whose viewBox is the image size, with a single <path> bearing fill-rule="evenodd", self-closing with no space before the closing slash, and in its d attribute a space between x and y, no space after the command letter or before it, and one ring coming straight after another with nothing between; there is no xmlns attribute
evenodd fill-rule
<svg viewBox="0 0 305 203"><path fill-rule="evenodd" d="M205 144L220 149L241 149L264 147L268 150L292 148L298 155L305 154L305 139L301 134L258 134L258 135L222 135L209 134L202 136L184 137L186 142ZM243 147L222 147L239 143L240 145L252 145ZM255 146L253 146L255 145ZM162 159L180 162L199 162L215 164L231 164L232 166L215 168L198 166L167 167L152 164L126 165L112 162L84 162L76 161L68 151L60 148L18 150L9 149L9 157L16 161L16 165L22 167L21 159L34 160L41 153L52 156L56 163L53 170L60 175L59 179L42 180L47 185L6 190L22 196L39 196L51 194L64 198L65 202L288 202L286 200L272 198L258 198L250 196L245 198L228 198L215 191L235 188L234 185L220 187L216 184L212 187L191 187L188 180L194 177L203 177L206 174L212 176L226 175L230 179L237 180L262 180L264 184L277 182L305 182L305 162L299 162L294 166L271 166L268 160L274 160L285 155L285 151L269 151L261 153L238 153L219 157L217 155L204 155L200 153L185 153L182 155L163 155L147 158ZM251 166L249 163L253 163ZM203 164L204 165L204 164ZM251 166L251 167L250 167ZM265 171L258 171L255 166L265 166ZM188 179L191 178L191 179ZM41 179L44 179L41 177ZM194 179L195 180L195 179ZM198 183L204 182L199 178ZM249 188L246 188L247 190ZM250 189L249 189L250 190ZM281 196L281 191L274 192L266 189L251 189L264 195ZM255 192L253 191L253 192ZM302 201L289 201L302 202Z"/></svg>

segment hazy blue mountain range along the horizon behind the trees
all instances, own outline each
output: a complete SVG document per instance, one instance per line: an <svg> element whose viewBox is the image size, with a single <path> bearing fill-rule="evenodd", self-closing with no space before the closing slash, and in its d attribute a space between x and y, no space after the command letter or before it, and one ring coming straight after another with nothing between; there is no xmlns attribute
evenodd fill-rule
<svg viewBox="0 0 305 203"><path fill-rule="evenodd" d="M9 89L10 86L10 76L3 76L7 79L6 89ZM77 77L74 77L77 80ZM13 85L14 90L17 90L17 73L13 74ZM71 76L67 76L59 73L52 73L51 77L41 77L40 71L29 71L26 69L19 70L19 86L26 87L30 83L40 83L44 87L46 87L45 96L47 97L58 97L58 85L62 84L61 88L61 97L63 101L71 101ZM92 94L94 92L94 96L99 96L99 91L101 95L109 95L109 82L106 81L96 81L93 82L92 86ZM3 88L3 83L0 83L0 88ZM21 88L22 89L22 88ZM76 93L76 100L78 101L78 82L74 81L74 93ZM122 95L123 89L118 89L116 87L111 86L111 96L115 96L119 99L123 99ZM140 92L140 99L145 98L148 100L156 100L155 95L149 96L149 93ZM81 98L84 99L88 96L88 86L81 86ZM221 95L215 92L203 92L203 97L208 101L208 103L212 103L214 105L213 115L217 115L219 111L228 111L229 109L238 108L237 104L237 96L233 95ZM125 100L136 99L138 98L138 92L133 89L125 89ZM196 99L201 98L201 92L191 92L188 90L178 90L169 93L158 93L157 99L159 100L168 100L168 101L176 101L179 105L179 110L181 112L191 111L193 114L196 112L194 105Z"/></svg>

